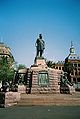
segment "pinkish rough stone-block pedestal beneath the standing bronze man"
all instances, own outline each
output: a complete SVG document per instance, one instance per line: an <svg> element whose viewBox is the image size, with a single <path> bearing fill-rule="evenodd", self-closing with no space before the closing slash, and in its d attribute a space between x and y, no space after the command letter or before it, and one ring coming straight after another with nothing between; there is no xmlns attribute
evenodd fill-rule
<svg viewBox="0 0 80 119"><path fill-rule="evenodd" d="M60 93L60 70L47 67L45 59L36 59L35 64L30 69L32 71L32 94ZM39 73L48 74L48 84L39 85ZM41 78L41 80L43 80Z"/></svg>

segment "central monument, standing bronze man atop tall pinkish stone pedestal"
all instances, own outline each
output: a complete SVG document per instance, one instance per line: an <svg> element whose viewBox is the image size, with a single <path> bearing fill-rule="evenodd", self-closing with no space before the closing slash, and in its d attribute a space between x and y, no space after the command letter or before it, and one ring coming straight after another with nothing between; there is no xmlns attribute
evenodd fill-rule
<svg viewBox="0 0 80 119"><path fill-rule="evenodd" d="M36 40L34 64L31 65L29 73L27 72L28 82L31 82L28 92L31 94L60 93L59 82L61 71L47 66L46 59L43 57L44 49L45 41L42 38L42 34L39 34L39 38Z"/></svg>

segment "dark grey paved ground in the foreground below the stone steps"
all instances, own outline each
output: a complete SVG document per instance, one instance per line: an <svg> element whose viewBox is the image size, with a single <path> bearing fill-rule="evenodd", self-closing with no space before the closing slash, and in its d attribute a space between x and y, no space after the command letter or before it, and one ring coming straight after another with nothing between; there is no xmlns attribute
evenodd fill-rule
<svg viewBox="0 0 80 119"><path fill-rule="evenodd" d="M14 106L0 108L0 119L80 119L80 106Z"/></svg>

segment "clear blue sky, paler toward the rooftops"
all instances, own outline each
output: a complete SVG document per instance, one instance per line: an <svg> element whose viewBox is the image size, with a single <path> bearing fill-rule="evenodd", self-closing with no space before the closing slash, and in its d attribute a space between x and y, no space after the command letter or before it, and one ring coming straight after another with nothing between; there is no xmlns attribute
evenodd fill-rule
<svg viewBox="0 0 80 119"><path fill-rule="evenodd" d="M71 41L79 55L80 0L0 0L0 42L11 48L16 62L34 63L40 33L47 60L64 61Z"/></svg>

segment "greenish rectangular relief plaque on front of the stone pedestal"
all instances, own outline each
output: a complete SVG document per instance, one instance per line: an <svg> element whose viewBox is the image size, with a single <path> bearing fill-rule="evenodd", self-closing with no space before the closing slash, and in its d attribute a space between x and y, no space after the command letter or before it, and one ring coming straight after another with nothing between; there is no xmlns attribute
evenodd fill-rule
<svg viewBox="0 0 80 119"><path fill-rule="evenodd" d="M38 74L38 84L39 86L47 86L49 84L49 76L46 71L39 72Z"/></svg>

